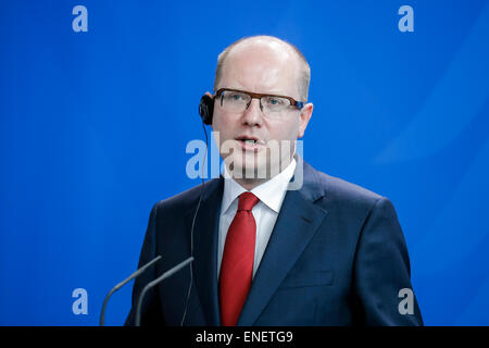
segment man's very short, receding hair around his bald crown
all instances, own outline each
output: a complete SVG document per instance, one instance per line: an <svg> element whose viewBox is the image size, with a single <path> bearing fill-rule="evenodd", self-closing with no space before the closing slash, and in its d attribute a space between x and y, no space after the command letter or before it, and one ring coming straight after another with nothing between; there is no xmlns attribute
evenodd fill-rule
<svg viewBox="0 0 489 348"><path fill-rule="evenodd" d="M299 77L298 77L298 79L299 79L298 80L298 91L299 91L299 96L302 99L302 101L306 101L308 95L309 95L309 84L311 82L311 67L309 66L308 60L305 59L304 54L302 54L302 52L294 45L287 42L283 39L279 39L278 37L268 36L268 35L256 35L256 36L249 36L249 37L240 38L239 40L237 40L237 41L233 42L231 45L229 45L228 47L226 47L226 49L220 53L220 55L217 57L217 66L215 69L214 91L216 90L217 84L221 79L224 62L226 61L226 58L229 55L229 52L233 50L233 48L235 48L237 45L239 45L243 41L259 40L259 39L268 39L268 40L279 41L280 44L290 48L292 50L292 52L294 52L297 54L297 57L299 58L299 61L301 63Z"/></svg>

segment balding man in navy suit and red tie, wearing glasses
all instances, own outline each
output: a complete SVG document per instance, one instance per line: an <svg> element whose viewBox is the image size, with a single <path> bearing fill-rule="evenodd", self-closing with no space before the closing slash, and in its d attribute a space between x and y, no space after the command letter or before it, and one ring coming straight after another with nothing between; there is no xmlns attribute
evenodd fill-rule
<svg viewBox="0 0 489 348"><path fill-rule="evenodd" d="M414 296L400 303L412 286L391 202L294 153L313 111L309 80L303 55L275 37L220 55L206 122L226 178L153 207L139 265L162 260L136 281L126 324L145 285L190 254L190 271L146 295L142 324L423 324Z"/></svg>

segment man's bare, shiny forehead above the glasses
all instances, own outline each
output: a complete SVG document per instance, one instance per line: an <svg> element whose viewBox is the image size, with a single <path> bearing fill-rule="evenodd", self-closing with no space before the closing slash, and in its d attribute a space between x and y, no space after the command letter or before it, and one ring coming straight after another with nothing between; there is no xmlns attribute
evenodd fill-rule
<svg viewBox="0 0 489 348"><path fill-rule="evenodd" d="M298 58L280 42L246 42L226 57L218 88L298 97Z"/></svg>

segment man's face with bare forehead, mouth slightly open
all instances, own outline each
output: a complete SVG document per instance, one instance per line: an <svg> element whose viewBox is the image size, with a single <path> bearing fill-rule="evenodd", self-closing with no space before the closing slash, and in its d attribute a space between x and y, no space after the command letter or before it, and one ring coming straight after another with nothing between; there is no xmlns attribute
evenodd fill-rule
<svg viewBox="0 0 489 348"><path fill-rule="evenodd" d="M301 101L298 91L300 62L296 54L277 45L243 46L236 47L226 58L217 90L231 88ZM216 98L212 127L218 132L220 152L228 170L231 164L231 175L253 179L260 171L268 173L266 177L269 177L271 171L277 174L284 170L291 161L296 140L303 136L311 113L309 103L302 111L289 107L279 114L265 114L260 109L260 99L252 99L246 111L236 113L223 110ZM256 141L251 145L243 139Z"/></svg>

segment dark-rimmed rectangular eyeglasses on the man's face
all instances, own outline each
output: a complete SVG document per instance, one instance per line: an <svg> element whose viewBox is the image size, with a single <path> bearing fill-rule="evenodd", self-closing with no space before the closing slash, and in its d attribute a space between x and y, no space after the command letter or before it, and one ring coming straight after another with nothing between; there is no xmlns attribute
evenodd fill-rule
<svg viewBox="0 0 489 348"><path fill-rule="evenodd" d="M298 110L304 107L303 101L297 101L291 97L254 94L230 88L221 88L215 94L215 98L218 98L223 110L236 113L244 112L250 107L253 98L260 99L260 109L267 115L280 115L290 107L294 107Z"/></svg>

